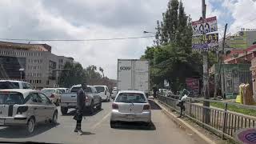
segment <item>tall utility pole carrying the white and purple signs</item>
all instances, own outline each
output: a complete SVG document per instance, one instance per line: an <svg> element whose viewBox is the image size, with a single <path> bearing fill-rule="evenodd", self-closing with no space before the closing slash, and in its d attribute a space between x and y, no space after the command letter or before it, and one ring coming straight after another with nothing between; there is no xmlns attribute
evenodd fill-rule
<svg viewBox="0 0 256 144"><path fill-rule="evenodd" d="M202 0L202 22L206 22L206 1ZM202 26L202 38L206 38L204 26ZM203 69L203 96L205 99L209 99L209 70L208 70L208 50L202 51L202 69ZM210 108L210 102L203 102L203 106ZM210 122L210 109L204 108L203 119L206 124Z"/></svg>

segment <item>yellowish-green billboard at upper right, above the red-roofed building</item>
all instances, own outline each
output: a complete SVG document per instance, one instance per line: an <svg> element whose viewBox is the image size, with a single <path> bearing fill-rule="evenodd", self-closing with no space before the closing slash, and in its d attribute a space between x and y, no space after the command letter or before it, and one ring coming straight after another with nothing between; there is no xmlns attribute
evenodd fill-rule
<svg viewBox="0 0 256 144"><path fill-rule="evenodd" d="M248 47L246 31L240 31L237 35L226 38L226 43L232 48L246 49Z"/></svg>

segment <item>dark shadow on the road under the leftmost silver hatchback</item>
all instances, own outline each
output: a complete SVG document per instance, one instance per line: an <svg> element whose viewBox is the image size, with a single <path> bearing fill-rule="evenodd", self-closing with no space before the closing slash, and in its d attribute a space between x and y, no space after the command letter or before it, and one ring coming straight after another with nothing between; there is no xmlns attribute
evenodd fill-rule
<svg viewBox="0 0 256 144"><path fill-rule="evenodd" d="M10 126L0 129L0 138L30 138L34 135L42 134L43 132L50 130L58 125L59 123L56 125L38 124L34 127L33 134L27 134L25 126Z"/></svg>

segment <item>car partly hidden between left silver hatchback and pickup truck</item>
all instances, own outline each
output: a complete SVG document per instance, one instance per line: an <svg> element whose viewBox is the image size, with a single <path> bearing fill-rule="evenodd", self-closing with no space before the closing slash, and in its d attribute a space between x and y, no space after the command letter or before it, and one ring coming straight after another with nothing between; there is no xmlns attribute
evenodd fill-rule
<svg viewBox="0 0 256 144"><path fill-rule="evenodd" d="M61 90L58 90L58 88L44 88L41 91L48 98L50 98L51 102L53 102L56 106L59 106L62 94Z"/></svg>

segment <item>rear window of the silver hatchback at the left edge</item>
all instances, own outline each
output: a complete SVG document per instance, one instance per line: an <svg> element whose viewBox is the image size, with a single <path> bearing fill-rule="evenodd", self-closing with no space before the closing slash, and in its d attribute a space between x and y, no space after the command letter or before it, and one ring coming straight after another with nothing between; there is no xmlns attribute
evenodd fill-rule
<svg viewBox="0 0 256 144"><path fill-rule="evenodd" d="M22 104L23 96L17 92L0 92L0 104Z"/></svg>

